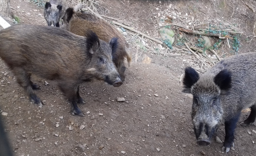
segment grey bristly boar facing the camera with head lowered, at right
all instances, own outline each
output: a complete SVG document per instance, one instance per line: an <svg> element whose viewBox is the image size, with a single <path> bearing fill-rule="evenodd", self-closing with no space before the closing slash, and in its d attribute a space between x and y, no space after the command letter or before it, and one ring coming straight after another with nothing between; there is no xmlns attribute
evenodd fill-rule
<svg viewBox="0 0 256 156"><path fill-rule="evenodd" d="M256 118L256 53L228 57L200 75L192 68L185 69L184 93L193 95L192 122L197 143L210 144L220 122L225 123L222 150L234 147L234 131L241 110L251 108L242 126L253 124Z"/></svg>

